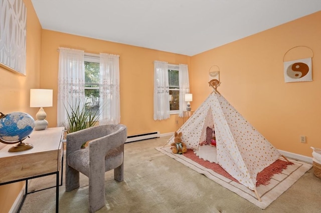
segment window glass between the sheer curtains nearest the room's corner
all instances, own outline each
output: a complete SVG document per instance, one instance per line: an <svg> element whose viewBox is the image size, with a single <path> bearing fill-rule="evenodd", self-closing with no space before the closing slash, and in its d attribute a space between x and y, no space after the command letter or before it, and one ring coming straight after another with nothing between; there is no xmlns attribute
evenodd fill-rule
<svg viewBox="0 0 321 213"><path fill-rule="evenodd" d="M175 64L168 65L169 86L170 86L170 113L177 114L180 109L180 83L179 66Z"/></svg>

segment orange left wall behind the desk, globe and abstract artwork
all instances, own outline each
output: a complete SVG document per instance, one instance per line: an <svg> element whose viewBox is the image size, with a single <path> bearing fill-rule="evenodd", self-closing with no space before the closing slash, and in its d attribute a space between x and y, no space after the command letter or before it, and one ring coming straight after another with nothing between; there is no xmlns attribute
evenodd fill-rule
<svg viewBox="0 0 321 213"><path fill-rule="evenodd" d="M26 76L0 67L0 111L24 111L35 116L39 109L30 108L30 88L40 87L42 28L30 0L27 7L27 64ZM0 148L5 144L0 143ZM8 212L24 182L0 186L0 212Z"/></svg>

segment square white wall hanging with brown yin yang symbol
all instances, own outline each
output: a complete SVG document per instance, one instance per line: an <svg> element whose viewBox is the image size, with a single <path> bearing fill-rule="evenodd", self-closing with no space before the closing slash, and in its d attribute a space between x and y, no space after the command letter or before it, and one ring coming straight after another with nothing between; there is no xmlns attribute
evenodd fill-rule
<svg viewBox="0 0 321 213"><path fill-rule="evenodd" d="M284 81L312 81L312 58L284 61Z"/></svg>

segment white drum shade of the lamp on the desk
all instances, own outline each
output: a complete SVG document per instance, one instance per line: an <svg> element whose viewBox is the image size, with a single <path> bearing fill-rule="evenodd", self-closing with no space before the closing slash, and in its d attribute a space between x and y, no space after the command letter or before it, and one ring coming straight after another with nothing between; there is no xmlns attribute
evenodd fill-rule
<svg viewBox="0 0 321 213"><path fill-rule="evenodd" d="M52 106L52 89L30 89L30 107Z"/></svg>

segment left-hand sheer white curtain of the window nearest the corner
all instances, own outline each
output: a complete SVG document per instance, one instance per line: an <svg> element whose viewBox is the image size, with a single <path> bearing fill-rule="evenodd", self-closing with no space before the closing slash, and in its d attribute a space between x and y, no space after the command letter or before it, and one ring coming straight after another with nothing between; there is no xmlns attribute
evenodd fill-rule
<svg viewBox="0 0 321 213"><path fill-rule="evenodd" d="M154 120L170 118L168 63L154 61Z"/></svg>

